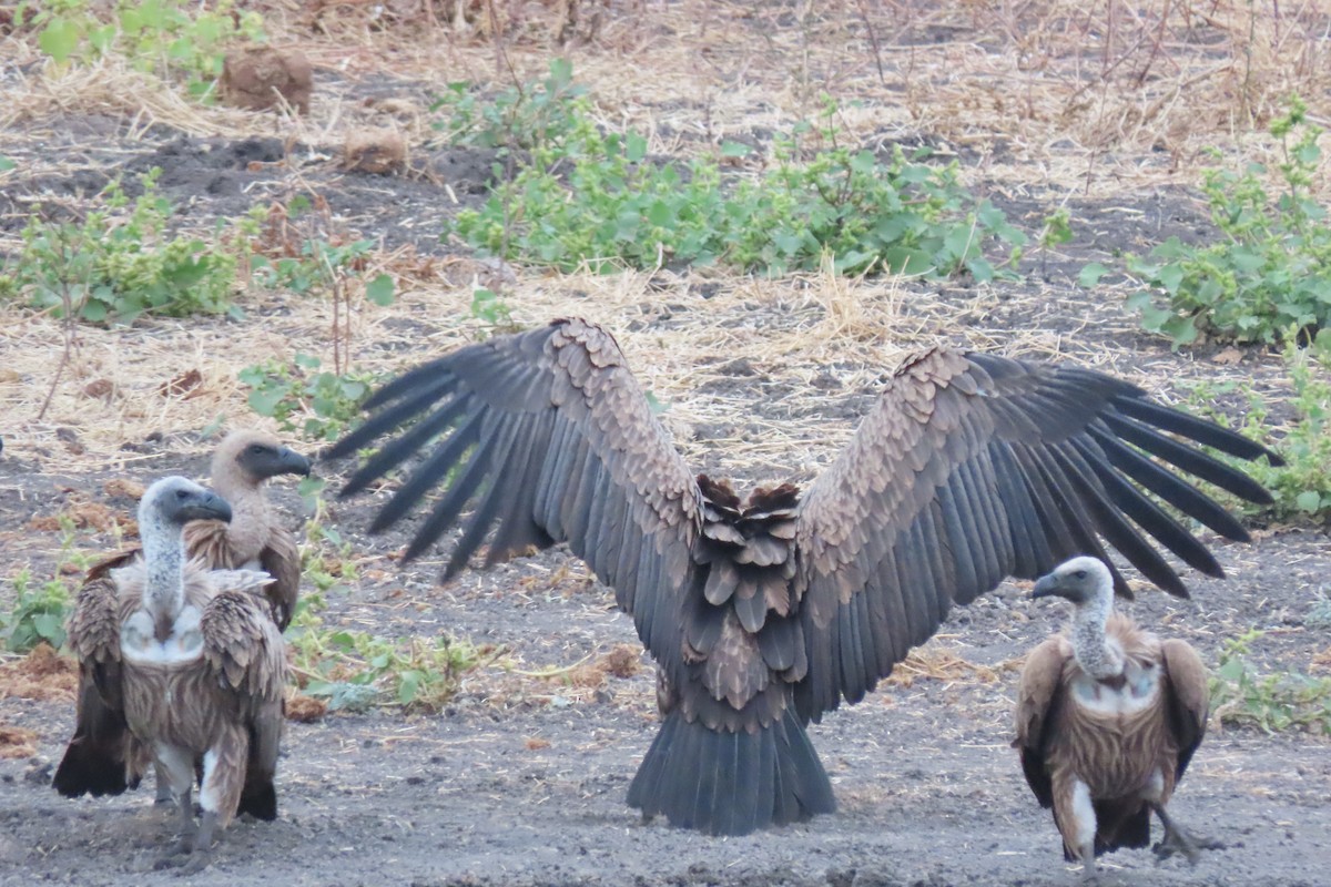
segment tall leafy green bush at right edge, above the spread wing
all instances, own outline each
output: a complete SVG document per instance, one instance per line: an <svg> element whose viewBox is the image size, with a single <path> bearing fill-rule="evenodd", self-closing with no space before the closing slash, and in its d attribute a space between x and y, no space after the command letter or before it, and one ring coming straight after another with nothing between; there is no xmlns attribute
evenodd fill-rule
<svg viewBox="0 0 1331 887"><path fill-rule="evenodd" d="M1194 342L1202 330L1271 343L1291 327L1307 335L1331 324L1331 227L1308 189L1322 161L1322 130L1292 97L1271 134L1284 156L1278 197L1267 193L1268 170L1260 164L1242 173L1207 170L1203 190L1223 237L1206 246L1171 237L1149 259L1126 261L1147 286L1129 306L1141 311L1146 330L1167 335L1174 347Z"/></svg>

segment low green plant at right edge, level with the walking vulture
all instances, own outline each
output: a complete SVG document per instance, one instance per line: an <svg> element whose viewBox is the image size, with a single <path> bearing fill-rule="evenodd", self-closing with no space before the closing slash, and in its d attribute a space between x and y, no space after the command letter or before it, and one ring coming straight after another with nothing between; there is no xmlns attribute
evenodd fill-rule
<svg viewBox="0 0 1331 887"><path fill-rule="evenodd" d="M1211 676L1211 706L1222 723L1258 726L1267 733L1294 727L1331 731L1331 678L1299 672L1262 674L1248 662L1252 629L1225 641Z"/></svg>

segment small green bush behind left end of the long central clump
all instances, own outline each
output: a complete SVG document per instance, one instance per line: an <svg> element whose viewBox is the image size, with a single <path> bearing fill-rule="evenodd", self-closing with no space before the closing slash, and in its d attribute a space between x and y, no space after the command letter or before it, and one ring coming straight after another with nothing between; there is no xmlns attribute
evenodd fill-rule
<svg viewBox="0 0 1331 887"><path fill-rule="evenodd" d="M574 84L567 59L552 59L550 76L508 86L488 101L466 81L449 84L430 105L430 113L446 114L434 122L450 145L531 149L562 142L586 113L586 86Z"/></svg>

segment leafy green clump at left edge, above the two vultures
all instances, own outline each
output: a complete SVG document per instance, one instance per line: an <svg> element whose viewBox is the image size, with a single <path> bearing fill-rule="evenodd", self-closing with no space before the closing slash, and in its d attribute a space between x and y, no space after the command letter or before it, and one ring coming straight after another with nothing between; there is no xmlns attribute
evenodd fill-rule
<svg viewBox="0 0 1331 887"><path fill-rule="evenodd" d="M236 311L236 253L222 237L168 233L173 206L157 193L160 176L160 169L145 173L133 201L113 181L81 221L35 213L23 247L0 267L0 299L23 297L59 317L101 324Z"/></svg>

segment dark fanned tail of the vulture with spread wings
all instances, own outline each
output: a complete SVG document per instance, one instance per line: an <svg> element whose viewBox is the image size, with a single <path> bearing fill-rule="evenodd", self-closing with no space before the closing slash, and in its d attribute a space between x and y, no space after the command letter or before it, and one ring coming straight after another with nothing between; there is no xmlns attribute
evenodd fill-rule
<svg viewBox="0 0 1331 887"><path fill-rule="evenodd" d="M675 709L628 786L628 803L713 835L836 810L828 774L791 707L757 733L711 730Z"/></svg>

